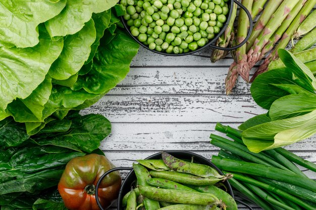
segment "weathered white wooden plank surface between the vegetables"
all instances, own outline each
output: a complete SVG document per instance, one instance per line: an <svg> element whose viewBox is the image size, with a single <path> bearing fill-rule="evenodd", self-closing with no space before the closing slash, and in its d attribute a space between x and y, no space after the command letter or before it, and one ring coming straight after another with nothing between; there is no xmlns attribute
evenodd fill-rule
<svg viewBox="0 0 316 210"><path fill-rule="evenodd" d="M112 122L112 134L100 148L116 166L131 167L137 159L166 150L191 151L211 159L219 149L210 145L209 134L223 135L214 130L216 122L238 127L266 113L241 79L233 94L225 95L224 79L232 59L211 63L210 51L172 57L140 48L126 79L82 111L102 114ZM315 140L313 136L286 149L316 162ZM316 173L301 170L316 179Z"/></svg>

